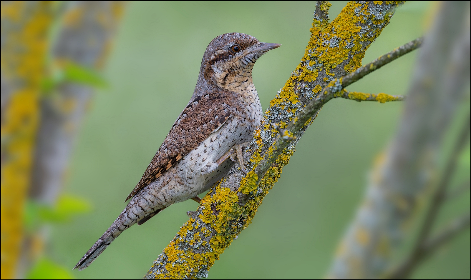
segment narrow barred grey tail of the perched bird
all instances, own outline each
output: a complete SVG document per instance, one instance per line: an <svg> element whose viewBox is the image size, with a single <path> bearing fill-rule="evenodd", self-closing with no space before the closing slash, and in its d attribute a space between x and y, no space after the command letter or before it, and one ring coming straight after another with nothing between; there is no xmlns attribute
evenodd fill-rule
<svg viewBox="0 0 471 280"><path fill-rule="evenodd" d="M88 252L81 258L81 260L73 267L73 269L84 270L87 268L100 254L118 237L121 232L128 229L131 225L136 223L136 220L128 218L127 207L122 211L121 215L114 221L114 223L106 230L100 239L93 244ZM126 225L127 224L127 225Z"/></svg>

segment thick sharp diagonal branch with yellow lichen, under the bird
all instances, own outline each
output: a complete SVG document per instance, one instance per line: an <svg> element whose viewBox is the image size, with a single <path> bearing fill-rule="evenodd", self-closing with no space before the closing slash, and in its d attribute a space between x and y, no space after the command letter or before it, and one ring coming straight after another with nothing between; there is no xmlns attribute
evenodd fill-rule
<svg viewBox="0 0 471 280"><path fill-rule="evenodd" d="M301 123L299 129L291 130L295 132L293 140L273 158L266 172L258 172L256 168L263 156L267 152L272 153L272 144L284 137L278 137L278 130L272 124L286 128L331 80L357 70L366 49L381 34L401 3L349 2L340 15L328 23L329 3L317 2L317 10L322 13L314 16L305 54L290 79L270 102L262 124L244 151L244 161L248 162L247 167L251 171L245 175L236 164L211 188L195 214L154 261L145 278L203 278L208 275L219 255L252 222L264 196L278 180L284 165L288 164L297 142L317 111Z"/></svg>

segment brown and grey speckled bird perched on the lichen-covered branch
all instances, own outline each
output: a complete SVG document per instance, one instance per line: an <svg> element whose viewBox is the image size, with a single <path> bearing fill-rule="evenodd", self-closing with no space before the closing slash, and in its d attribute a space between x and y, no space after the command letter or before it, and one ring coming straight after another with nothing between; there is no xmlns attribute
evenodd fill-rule
<svg viewBox="0 0 471 280"><path fill-rule="evenodd" d="M235 161L247 174L242 152L263 116L252 69L260 56L280 46L244 33L211 40L193 95L126 198L130 202L73 269L87 268L133 224L144 224L174 203L200 202L198 195L226 175Z"/></svg>

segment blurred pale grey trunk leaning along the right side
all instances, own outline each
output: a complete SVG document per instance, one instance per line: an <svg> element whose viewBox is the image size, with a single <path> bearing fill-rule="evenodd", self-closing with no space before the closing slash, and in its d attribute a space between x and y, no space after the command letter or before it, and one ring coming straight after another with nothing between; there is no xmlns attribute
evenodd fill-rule
<svg viewBox="0 0 471 280"><path fill-rule="evenodd" d="M398 131L374 163L365 198L329 278L381 278L424 191L437 185L437 153L470 75L469 3L442 2L418 54Z"/></svg>

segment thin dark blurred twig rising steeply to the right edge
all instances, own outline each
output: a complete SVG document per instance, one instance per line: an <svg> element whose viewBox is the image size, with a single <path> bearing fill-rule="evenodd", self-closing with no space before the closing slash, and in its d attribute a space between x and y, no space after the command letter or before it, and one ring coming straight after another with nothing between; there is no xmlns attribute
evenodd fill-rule
<svg viewBox="0 0 471 280"><path fill-rule="evenodd" d="M455 172L456 162L458 160L460 152L463 150L464 145L466 144L466 140L468 139L468 136L470 134L470 125L470 115L468 115L466 123L464 124L460 132L460 136L458 137L457 142L455 144L455 148L453 149L453 152L450 155L450 158L448 159L447 166L443 173L443 177L440 180L437 191L433 195L429 210L427 211L427 214L425 216L422 229L420 230L416 244L411 254L407 257L406 261L401 264L397 270L391 273L390 277L388 278L408 278L411 272L414 270L415 266L419 264L425 256L427 256L427 252L430 252L427 247L428 244L430 245L430 242L428 242L427 240L429 240L430 231L432 229L433 224L435 223L439 209L445 201L447 186L449 185L449 182ZM441 243L439 244L442 244L445 240L440 241Z"/></svg>

